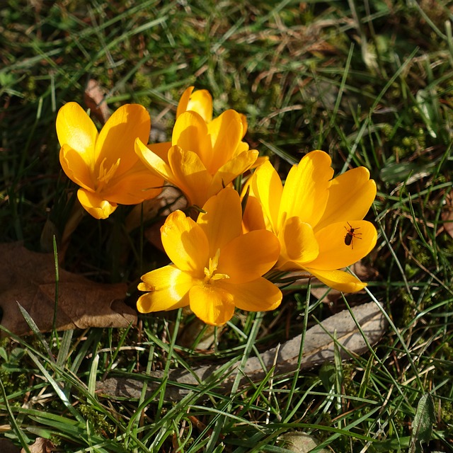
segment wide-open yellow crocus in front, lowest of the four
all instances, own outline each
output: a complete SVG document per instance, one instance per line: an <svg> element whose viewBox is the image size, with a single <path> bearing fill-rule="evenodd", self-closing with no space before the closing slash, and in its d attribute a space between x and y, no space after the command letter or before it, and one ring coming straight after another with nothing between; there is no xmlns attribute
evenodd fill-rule
<svg viewBox="0 0 453 453"><path fill-rule="evenodd" d="M138 288L147 293L139 297L137 309L149 313L190 306L205 323L221 326L235 307L277 308L282 293L262 277L280 253L275 235L265 229L241 234L241 201L231 188L211 197L203 210L197 222L181 211L167 217L161 239L173 264L142 276Z"/></svg>

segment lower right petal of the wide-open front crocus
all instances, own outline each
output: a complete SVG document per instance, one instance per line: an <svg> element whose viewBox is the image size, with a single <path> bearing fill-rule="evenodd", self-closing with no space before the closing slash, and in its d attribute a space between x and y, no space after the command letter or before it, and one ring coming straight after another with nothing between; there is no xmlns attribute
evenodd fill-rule
<svg viewBox="0 0 453 453"><path fill-rule="evenodd" d="M228 282L224 280L222 286L228 288L234 304L241 310L268 311L276 309L282 302L280 289L263 277L241 285L229 285Z"/></svg>

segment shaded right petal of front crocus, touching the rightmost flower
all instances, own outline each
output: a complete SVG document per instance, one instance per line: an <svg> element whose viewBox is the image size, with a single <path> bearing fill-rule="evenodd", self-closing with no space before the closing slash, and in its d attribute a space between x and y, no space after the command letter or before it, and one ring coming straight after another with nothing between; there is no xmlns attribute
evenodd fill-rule
<svg viewBox="0 0 453 453"><path fill-rule="evenodd" d="M280 254L275 234L261 229L238 236L220 251L217 272L229 276L228 283L251 282L273 267Z"/></svg>

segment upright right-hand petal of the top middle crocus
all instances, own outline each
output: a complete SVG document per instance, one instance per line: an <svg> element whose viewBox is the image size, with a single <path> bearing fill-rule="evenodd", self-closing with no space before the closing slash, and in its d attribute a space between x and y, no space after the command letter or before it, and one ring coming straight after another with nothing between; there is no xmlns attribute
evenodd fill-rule
<svg viewBox="0 0 453 453"><path fill-rule="evenodd" d="M226 110L207 125L212 145L212 159L206 163L213 175L226 162L231 160L243 137L241 116L235 110Z"/></svg>

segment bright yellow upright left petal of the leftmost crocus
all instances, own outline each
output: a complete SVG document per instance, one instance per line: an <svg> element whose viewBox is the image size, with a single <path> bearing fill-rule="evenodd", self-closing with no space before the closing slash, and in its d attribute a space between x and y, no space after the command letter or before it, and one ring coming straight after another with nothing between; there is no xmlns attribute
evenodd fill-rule
<svg viewBox="0 0 453 453"><path fill-rule="evenodd" d="M85 110L75 102L63 105L58 111L56 125L59 144L67 144L81 156L88 168L93 168L98 131Z"/></svg>

